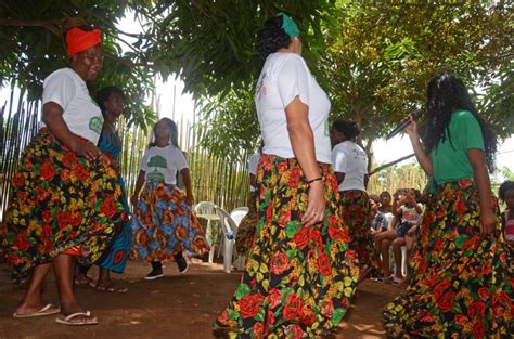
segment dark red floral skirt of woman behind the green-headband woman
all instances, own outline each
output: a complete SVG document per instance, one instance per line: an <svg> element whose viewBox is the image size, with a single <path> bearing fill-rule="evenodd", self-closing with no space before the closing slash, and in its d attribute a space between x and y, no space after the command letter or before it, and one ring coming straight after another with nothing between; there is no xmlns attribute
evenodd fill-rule
<svg viewBox="0 0 514 339"><path fill-rule="evenodd" d="M348 225L350 248L356 251L360 266L372 268L375 275L382 270L382 264L371 234L373 218L371 217L370 198L364 191L343 191L339 201L343 222Z"/></svg>

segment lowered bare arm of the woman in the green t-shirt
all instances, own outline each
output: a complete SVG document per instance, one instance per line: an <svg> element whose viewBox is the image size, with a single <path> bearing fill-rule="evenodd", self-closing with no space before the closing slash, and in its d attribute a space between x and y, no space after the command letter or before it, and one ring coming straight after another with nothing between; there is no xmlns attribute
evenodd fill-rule
<svg viewBox="0 0 514 339"><path fill-rule="evenodd" d="M496 216L492 204L491 183L487 172L486 156L484 151L468 149L467 158L473 167L476 188L480 197L480 232L490 235L494 231Z"/></svg>

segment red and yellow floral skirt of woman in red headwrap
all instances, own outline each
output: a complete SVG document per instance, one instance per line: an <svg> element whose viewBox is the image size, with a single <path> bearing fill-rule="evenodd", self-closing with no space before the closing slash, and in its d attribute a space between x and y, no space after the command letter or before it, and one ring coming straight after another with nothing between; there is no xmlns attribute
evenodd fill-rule
<svg viewBox="0 0 514 339"><path fill-rule="evenodd" d="M107 157L77 157L43 128L25 148L2 227L13 279L75 248L91 264L126 220L118 175Z"/></svg>

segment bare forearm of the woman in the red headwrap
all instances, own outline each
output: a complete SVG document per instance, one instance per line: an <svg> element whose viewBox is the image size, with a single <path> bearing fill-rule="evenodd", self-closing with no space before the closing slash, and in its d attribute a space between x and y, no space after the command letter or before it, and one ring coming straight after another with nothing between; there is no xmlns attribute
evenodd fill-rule
<svg viewBox="0 0 514 339"><path fill-rule="evenodd" d="M102 154L100 149L92 142L85 142L72 133L63 119L63 113L59 104L48 102L43 105L41 118L50 132L78 156L83 156L88 160L97 159Z"/></svg>

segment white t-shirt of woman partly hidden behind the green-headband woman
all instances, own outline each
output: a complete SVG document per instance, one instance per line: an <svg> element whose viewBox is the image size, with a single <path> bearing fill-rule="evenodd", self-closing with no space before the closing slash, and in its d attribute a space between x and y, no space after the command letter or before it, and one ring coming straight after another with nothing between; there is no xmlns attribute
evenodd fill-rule
<svg viewBox="0 0 514 339"><path fill-rule="evenodd" d="M345 173L339 191L365 191L364 177L368 174L368 156L352 141L344 141L332 149L334 172Z"/></svg>

